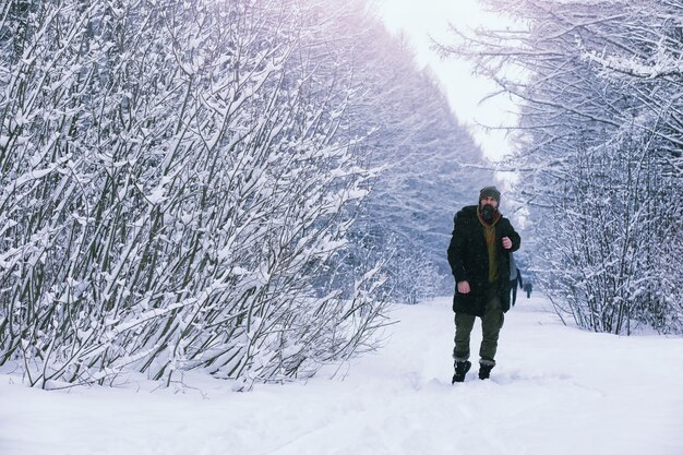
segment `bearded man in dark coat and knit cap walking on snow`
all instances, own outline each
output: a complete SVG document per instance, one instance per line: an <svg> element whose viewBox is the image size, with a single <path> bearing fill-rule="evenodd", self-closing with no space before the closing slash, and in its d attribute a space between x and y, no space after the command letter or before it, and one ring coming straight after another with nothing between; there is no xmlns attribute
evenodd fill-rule
<svg viewBox="0 0 683 455"><path fill-rule="evenodd" d="M488 379L495 367L499 334L510 310L510 256L519 249L519 235L499 206L501 192L486 187L479 204L463 207L453 218L448 263L455 277L455 347L453 383L465 381L471 367L469 337L481 319L479 379Z"/></svg>

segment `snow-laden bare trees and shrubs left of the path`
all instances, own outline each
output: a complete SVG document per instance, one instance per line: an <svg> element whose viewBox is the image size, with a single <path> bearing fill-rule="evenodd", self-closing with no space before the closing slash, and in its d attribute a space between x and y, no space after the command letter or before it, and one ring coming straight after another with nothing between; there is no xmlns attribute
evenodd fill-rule
<svg viewBox="0 0 683 455"><path fill-rule="evenodd" d="M434 170L414 131L477 155L395 44L363 0L3 2L0 366L249 384L374 348L387 299L444 277L452 207L420 244L429 187L402 194L459 151Z"/></svg>

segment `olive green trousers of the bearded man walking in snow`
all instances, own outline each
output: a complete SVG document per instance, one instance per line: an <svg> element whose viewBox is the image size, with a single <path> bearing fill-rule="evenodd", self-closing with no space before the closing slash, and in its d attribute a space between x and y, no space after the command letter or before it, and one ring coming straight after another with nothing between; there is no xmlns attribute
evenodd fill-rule
<svg viewBox="0 0 683 455"><path fill-rule="evenodd" d="M455 360L469 359L469 336L475 326L475 319L477 316L471 314L455 313L455 348L453 348L453 358ZM504 321L505 316L501 310L501 299L498 292L492 290L487 296L487 306L483 316L481 316L480 362L495 364L498 337Z"/></svg>

